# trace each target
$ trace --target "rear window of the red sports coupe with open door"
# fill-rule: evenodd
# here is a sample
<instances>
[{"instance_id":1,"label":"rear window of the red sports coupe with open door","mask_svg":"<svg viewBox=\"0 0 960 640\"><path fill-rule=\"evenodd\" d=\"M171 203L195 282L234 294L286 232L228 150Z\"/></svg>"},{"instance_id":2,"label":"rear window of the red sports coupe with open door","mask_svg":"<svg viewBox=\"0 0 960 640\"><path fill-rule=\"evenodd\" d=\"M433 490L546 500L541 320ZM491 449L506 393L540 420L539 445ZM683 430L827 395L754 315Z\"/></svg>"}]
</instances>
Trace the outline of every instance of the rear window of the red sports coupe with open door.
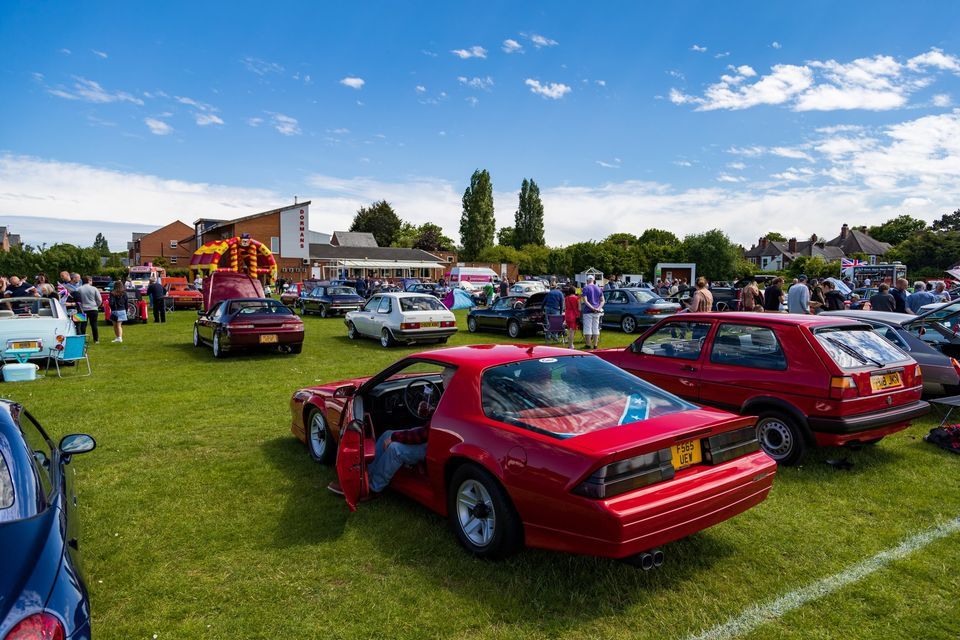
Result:
<instances>
[{"instance_id":1,"label":"rear window of the red sports coupe with open door","mask_svg":"<svg viewBox=\"0 0 960 640\"><path fill-rule=\"evenodd\" d=\"M480 385L487 417L571 438L696 407L593 356L491 367Z\"/></svg>"}]
</instances>

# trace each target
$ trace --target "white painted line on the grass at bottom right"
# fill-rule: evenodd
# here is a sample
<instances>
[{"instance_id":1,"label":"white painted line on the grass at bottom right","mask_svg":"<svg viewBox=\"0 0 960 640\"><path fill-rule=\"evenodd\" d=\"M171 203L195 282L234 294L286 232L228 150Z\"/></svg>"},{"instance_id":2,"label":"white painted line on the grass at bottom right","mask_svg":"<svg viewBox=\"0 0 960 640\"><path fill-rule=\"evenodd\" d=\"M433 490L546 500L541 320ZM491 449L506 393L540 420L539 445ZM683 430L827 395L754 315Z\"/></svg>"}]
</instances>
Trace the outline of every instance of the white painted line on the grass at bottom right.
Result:
<instances>
[{"instance_id":1,"label":"white painted line on the grass at bottom right","mask_svg":"<svg viewBox=\"0 0 960 640\"><path fill-rule=\"evenodd\" d=\"M784 614L805 605L811 600L822 598L834 591L842 589L848 584L863 580L871 573L882 569L891 562L905 558L914 551L924 548L931 542L945 538L957 531L960 531L960 517L907 538L896 547L881 551L872 558L858 562L840 573L818 580L796 591L791 591L771 602L754 605L745 609L739 616L730 618L723 624L703 631L698 635L690 636L689 640L730 640L731 638L755 631L768 622L782 617Z\"/></svg>"}]
</instances>

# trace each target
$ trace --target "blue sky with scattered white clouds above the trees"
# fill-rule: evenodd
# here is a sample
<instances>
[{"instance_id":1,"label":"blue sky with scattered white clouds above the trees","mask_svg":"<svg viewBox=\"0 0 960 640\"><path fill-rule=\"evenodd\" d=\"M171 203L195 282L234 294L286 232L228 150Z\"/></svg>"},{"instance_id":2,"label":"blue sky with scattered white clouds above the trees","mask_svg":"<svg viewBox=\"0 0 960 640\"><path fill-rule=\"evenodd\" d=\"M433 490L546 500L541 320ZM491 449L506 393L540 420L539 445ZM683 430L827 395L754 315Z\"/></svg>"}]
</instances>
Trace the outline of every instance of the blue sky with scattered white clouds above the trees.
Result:
<instances>
[{"instance_id":1,"label":"blue sky with scattered white clouds above the trees","mask_svg":"<svg viewBox=\"0 0 960 640\"><path fill-rule=\"evenodd\" d=\"M22 217L133 225L104 227L119 244L296 195L318 231L386 198L457 237L478 167L500 224L538 182L551 244L932 219L960 206L958 18L948 2L8 1L0 224L34 243L99 228Z\"/></svg>"}]
</instances>

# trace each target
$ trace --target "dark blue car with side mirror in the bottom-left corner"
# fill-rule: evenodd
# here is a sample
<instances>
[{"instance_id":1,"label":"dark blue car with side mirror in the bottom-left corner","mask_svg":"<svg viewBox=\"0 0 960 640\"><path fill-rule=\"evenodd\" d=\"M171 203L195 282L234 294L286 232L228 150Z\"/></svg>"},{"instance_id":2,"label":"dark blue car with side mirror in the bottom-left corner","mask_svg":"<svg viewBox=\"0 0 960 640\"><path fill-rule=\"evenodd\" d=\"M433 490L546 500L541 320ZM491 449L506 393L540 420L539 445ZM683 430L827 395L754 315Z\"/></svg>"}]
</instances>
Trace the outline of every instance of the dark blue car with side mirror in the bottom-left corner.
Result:
<instances>
[{"instance_id":1,"label":"dark blue car with side mirror in the bottom-left corner","mask_svg":"<svg viewBox=\"0 0 960 640\"><path fill-rule=\"evenodd\" d=\"M90 639L69 464L94 447L83 434L57 446L21 405L0 400L0 638Z\"/></svg>"}]
</instances>

